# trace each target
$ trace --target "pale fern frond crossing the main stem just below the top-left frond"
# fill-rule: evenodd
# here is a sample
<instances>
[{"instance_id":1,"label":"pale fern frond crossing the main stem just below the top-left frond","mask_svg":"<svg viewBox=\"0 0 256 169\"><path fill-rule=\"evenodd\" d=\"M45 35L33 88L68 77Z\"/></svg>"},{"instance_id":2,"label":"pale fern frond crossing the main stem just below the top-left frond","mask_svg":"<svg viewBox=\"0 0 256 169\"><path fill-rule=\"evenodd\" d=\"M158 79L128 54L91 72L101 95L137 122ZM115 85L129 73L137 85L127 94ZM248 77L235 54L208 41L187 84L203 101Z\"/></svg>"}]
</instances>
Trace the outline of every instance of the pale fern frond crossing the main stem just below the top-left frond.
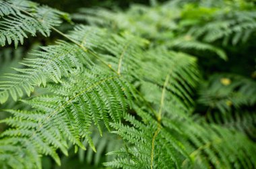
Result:
<instances>
[{"instance_id":1,"label":"pale fern frond crossing the main stem just below the top-left frond","mask_svg":"<svg viewBox=\"0 0 256 169\"><path fill-rule=\"evenodd\" d=\"M84 25L75 27L67 37L75 44L61 41L57 42L57 45L42 47L42 51L34 54L37 58L26 59L22 62L26 68L15 68L20 72L19 75L8 74L9 81L3 81L0 84L0 103L5 103L9 96L14 101L22 97L24 93L30 96L34 86L42 84L45 87L49 80L61 82L61 78L69 76L69 72L73 69L83 70L90 68L95 63L108 63L105 66L118 74L118 66L121 68L121 65L118 65L121 64L119 58L123 57L123 43L127 44L130 41L131 44L124 53L123 60L126 60L127 56L135 58L133 56L135 48L141 46L139 44L141 41L136 42L139 38L132 39L132 36L128 40L121 36L110 36L104 30ZM120 47L113 48L115 44L119 44ZM108 54L110 52L112 52L112 56Z\"/></svg>"}]
</instances>

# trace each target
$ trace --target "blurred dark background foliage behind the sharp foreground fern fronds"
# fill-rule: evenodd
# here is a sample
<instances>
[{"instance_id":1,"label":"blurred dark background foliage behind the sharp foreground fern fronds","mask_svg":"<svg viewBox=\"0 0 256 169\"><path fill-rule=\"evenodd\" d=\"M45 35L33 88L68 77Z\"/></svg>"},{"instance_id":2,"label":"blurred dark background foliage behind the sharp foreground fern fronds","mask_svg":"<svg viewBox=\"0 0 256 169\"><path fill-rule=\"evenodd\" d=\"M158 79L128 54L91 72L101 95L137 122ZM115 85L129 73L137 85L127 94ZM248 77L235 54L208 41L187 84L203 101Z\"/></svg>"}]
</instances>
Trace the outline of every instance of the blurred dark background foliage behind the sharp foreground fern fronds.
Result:
<instances>
[{"instance_id":1,"label":"blurred dark background foliage behind the sharp foreground fern fronds","mask_svg":"<svg viewBox=\"0 0 256 169\"><path fill-rule=\"evenodd\" d=\"M245 0L36 0L43 5L71 13L73 22L106 27L115 32L131 32L148 40L148 48L156 46L197 56L201 82L194 99L193 113L209 123L236 129L256 141L256 7L255 1ZM60 30L70 30L65 23ZM24 56L30 58L39 45L49 45L59 38L40 35L29 38L13 51L1 48L0 74L19 68ZM4 77L0 77L4 80ZM47 91L36 91L46 93ZM37 95L37 93L33 93ZM14 104L14 105L13 105ZM1 109L20 107L7 102ZM0 112L0 118L7 117ZM0 125L0 131L5 129ZM95 135L98 154L70 149L62 156L62 166L44 157L43 168L104 168L101 162L106 152L118 149L122 142L116 135ZM100 138L99 138L100 137ZM102 139L103 138L103 139ZM111 143L111 144L110 144ZM87 146L87 145L85 145Z\"/></svg>"}]
</instances>

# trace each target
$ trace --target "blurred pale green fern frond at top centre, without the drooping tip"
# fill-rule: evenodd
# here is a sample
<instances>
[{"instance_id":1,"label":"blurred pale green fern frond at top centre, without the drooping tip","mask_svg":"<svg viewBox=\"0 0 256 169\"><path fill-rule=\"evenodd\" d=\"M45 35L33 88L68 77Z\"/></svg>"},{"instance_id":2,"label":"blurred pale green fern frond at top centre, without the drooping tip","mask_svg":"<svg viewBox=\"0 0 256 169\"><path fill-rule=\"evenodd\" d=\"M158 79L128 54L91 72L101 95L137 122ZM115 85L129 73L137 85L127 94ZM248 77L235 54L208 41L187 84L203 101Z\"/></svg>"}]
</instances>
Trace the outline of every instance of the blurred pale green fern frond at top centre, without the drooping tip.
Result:
<instances>
[{"instance_id":1,"label":"blurred pale green fern frond at top centre, without the drooping tip","mask_svg":"<svg viewBox=\"0 0 256 169\"><path fill-rule=\"evenodd\" d=\"M160 5L159 7L147 7L146 5L131 5L129 10L110 11L108 9L79 9L73 14L78 21L86 21L90 25L110 27L111 30L127 30L143 38L160 38L162 32L170 32L177 29L177 23L172 21L179 16L172 12L172 6Z\"/></svg>"}]
</instances>

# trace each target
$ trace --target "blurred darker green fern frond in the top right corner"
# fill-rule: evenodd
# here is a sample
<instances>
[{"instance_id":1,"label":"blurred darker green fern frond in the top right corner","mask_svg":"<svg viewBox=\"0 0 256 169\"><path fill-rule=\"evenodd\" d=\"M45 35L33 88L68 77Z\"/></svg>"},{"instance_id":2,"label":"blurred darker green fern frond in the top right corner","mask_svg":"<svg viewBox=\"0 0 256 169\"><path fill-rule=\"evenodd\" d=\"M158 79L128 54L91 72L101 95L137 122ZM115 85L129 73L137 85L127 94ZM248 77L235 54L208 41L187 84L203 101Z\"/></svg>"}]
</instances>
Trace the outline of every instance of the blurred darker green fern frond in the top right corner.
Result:
<instances>
[{"instance_id":1,"label":"blurred darker green fern frond in the top right corner","mask_svg":"<svg viewBox=\"0 0 256 169\"><path fill-rule=\"evenodd\" d=\"M219 3L218 6L227 5L226 2ZM214 5L212 5L214 6ZM231 42L236 45L239 42L247 42L250 36L255 32L255 9L250 3L234 2L234 5L229 5L230 11L219 9L214 11L215 15L208 15L210 19L204 21L205 16L201 16L198 23L191 26L188 34L195 38L201 38L204 42L214 42L222 40L224 45ZM242 9L242 8L245 9ZM206 9L211 9L211 6ZM193 9L185 11L187 16L193 12ZM188 19L188 18L185 18Z\"/></svg>"}]
</instances>

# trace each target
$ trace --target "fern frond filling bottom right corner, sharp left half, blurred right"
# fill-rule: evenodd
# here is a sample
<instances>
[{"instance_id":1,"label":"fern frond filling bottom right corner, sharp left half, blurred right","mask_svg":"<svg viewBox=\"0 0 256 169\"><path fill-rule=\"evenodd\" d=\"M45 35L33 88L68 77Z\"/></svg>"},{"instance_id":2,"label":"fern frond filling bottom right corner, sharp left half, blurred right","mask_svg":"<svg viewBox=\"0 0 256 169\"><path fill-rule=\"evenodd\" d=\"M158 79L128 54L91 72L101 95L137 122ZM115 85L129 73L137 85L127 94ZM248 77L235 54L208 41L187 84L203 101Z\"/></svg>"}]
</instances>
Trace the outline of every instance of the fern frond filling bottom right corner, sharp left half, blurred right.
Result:
<instances>
[{"instance_id":1,"label":"fern frond filling bottom right corner, sharp left half, blurred right","mask_svg":"<svg viewBox=\"0 0 256 169\"><path fill-rule=\"evenodd\" d=\"M190 118L170 120L168 125L167 123L160 125L156 119L152 117L150 119L150 115L139 111L137 113L143 119L143 123L129 116L125 119L132 124L131 126L113 124L117 129L114 132L131 145L108 153L108 155L115 154L118 158L106 162L106 166L115 168L255 167L255 144L241 133L218 125L191 121ZM175 123L178 124L178 128ZM157 127L159 125L161 127ZM182 152L183 148L185 152ZM150 160L152 151L153 160ZM189 154L189 157L186 154Z\"/></svg>"}]
</instances>

